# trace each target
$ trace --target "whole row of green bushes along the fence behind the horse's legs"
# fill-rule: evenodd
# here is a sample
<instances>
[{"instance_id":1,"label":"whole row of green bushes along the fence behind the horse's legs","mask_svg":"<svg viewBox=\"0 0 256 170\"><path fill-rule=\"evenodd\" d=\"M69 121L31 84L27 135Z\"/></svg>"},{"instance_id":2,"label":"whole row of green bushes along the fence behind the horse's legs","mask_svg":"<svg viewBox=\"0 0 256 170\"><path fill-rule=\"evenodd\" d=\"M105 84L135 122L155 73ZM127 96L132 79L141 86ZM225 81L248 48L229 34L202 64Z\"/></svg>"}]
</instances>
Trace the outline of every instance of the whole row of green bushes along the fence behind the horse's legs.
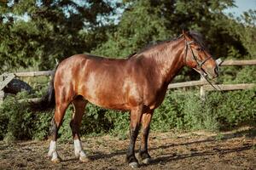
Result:
<instances>
[{"instance_id":1,"label":"whole row of green bushes along the fence behind the horse's legs","mask_svg":"<svg viewBox=\"0 0 256 170\"><path fill-rule=\"evenodd\" d=\"M162 105L154 111L151 129L166 132L181 130L221 130L241 125L255 125L256 89L207 93L207 99L201 102L199 89L169 90ZM37 94L38 95L38 94ZM7 97L0 106L0 139L46 139L49 136L53 111L32 112L26 102L36 96L20 93ZM129 113L110 111L95 105L87 105L80 133L96 135L111 133L120 139L128 137ZM73 106L67 109L63 124L59 130L60 141L72 139L69 122Z\"/></svg>"}]
</instances>

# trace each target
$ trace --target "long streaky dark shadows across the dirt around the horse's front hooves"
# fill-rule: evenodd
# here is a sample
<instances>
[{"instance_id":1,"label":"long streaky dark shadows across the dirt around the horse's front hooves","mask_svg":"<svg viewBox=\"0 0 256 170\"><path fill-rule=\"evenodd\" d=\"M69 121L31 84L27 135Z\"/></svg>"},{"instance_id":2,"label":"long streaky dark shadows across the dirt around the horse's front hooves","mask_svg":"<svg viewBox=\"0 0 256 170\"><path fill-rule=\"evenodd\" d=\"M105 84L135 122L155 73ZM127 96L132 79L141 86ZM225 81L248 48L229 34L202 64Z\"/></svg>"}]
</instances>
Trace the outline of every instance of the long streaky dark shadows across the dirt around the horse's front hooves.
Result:
<instances>
[{"instance_id":1,"label":"long streaky dark shadows across the dirt around the horse's front hooves","mask_svg":"<svg viewBox=\"0 0 256 170\"><path fill-rule=\"evenodd\" d=\"M186 142L186 143L180 143L180 144L163 144L157 147L150 148L149 151L151 150L167 150L167 149L172 149L177 146L183 146L183 145L190 145L190 144L206 144L206 143L212 143L212 142L223 142L225 140L229 139L236 139L236 138L241 138L241 137L246 137L249 139L254 139L256 137L256 127L250 127L249 129L246 130L241 130L237 132L232 132L232 133L219 133L212 135L211 137L208 137L207 139L203 140L196 140L192 142ZM213 148L212 150L207 150L207 151L201 151L201 150L191 150L189 154L164 154L163 156L158 156L154 158L151 162L151 165L153 164L159 164L160 162L168 162L168 161L176 161L176 160L182 160L186 159L189 157L196 157L196 156L213 156L213 155L225 155L229 154L232 152L241 152L243 150L250 150L252 149L253 144L243 144L239 147L233 147L233 148L227 148L227 149L219 149L219 148ZM138 150L136 150L137 152ZM122 156L125 155L126 150L117 150L113 153L110 154L105 154L103 152L95 152L94 155L90 156L90 159L92 160L98 160L98 159L104 159L104 158L111 158L113 156Z\"/></svg>"}]
</instances>

